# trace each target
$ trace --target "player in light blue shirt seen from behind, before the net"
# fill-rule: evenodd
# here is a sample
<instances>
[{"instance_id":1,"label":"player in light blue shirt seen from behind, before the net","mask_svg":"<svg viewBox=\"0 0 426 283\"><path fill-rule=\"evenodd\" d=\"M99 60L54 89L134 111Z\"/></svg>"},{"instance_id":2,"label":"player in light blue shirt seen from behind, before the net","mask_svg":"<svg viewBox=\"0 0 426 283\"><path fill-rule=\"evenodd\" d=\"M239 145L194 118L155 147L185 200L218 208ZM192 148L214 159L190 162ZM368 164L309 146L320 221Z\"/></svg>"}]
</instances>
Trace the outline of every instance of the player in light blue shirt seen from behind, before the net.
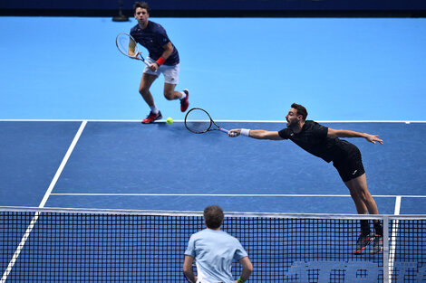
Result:
<instances>
[{"instance_id":1,"label":"player in light blue shirt seen from behind, before the net","mask_svg":"<svg viewBox=\"0 0 426 283\"><path fill-rule=\"evenodd\" d=\"M207 228L192 234L185 250L183 272L189 282L244 283L250 277L253 265L248 259L247 251L237 238L220 230L223 218L223 210L218 205L209 205L204 209ZM197 276L192 270L194 259L197 264ZM234 280L231 273L234 259L243 266L241 276L237 280Z\"/></svg>"}]
</instances>

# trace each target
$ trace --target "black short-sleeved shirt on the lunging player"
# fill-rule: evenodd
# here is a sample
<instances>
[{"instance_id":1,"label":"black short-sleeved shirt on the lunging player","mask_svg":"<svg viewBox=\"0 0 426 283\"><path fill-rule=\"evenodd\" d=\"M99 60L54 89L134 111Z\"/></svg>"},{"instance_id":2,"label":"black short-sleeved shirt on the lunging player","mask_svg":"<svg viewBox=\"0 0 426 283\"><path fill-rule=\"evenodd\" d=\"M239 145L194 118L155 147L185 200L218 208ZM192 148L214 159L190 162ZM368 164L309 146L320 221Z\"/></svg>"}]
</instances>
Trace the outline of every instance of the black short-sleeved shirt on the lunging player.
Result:
<instances>
[{"instance_id":1,"label":"black short-sleeved shirt on the lunging player","mask_svg":"<svg viewBox=\"0 0 426 283\"><path fill-rule=\"evenodd\" d=\"M295 134L291 128L286 127L278 134L284 139L290 139L308 153L323 158L326 162L343 159L354 145L338 137L327 137L327 132L328 127L306 120L300 133Z\"/></svg>"}]
</instances>

